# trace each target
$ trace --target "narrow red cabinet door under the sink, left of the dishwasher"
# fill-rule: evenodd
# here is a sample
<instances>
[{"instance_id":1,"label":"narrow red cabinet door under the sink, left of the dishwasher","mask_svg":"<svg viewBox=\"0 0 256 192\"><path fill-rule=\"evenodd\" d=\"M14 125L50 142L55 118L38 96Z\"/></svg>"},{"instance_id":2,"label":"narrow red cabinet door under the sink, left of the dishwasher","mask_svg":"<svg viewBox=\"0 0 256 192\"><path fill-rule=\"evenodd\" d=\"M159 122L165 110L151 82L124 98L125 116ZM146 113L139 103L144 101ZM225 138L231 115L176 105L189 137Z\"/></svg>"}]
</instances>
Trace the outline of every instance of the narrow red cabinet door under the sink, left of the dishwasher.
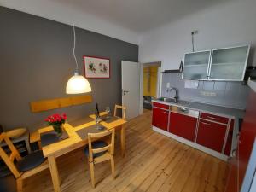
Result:
<instances>
[{"instance_id":1,"label":"narrow red cabinet door under the sink, left of the dishwasher","mask_svg":"<svg viewBox=\"0 0 256 192\"><path fill-rule=\"evenodd\" d=\"M153 108L152 125L167 131L169 111L160 108Z\"/></svg>"}]
</instances>

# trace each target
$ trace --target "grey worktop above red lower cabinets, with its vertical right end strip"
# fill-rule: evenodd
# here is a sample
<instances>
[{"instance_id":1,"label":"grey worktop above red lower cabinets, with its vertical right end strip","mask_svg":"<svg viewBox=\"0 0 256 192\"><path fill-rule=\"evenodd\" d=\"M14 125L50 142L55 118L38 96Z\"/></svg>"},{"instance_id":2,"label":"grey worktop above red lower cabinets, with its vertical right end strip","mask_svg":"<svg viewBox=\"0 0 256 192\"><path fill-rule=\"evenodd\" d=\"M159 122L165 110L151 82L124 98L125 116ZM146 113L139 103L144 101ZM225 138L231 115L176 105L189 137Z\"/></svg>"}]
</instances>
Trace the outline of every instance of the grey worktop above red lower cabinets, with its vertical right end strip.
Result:
<instances>
[{"instance_id":1,"label":"grey worktop above red lower cabinets, with its vertical right end strip","mask_svg":"<svg viewBox=\"0 0 256 192\"><path fill-rule=\"evenodd\" d=\"M177 107L181 107L181 108L194 109L194 110L197 110L197 111L200 111L200 112L212 113L212 114L226 116L228 118L235 119L233 136L232 136L231 151L236 149L237 134L239 132L239 119L242 119L244 117L245 110L236 109L236 108L220 107L220 106L215 106L215 105L200 103L200 102L179 101L179 102L175 103L175 102L160 101L160 100L157 100L157 99L152 100L152 102L158 102L158 103L166 104L166 105L169 105L169 106L177 106Z\"/></svg>"}]
</instances>

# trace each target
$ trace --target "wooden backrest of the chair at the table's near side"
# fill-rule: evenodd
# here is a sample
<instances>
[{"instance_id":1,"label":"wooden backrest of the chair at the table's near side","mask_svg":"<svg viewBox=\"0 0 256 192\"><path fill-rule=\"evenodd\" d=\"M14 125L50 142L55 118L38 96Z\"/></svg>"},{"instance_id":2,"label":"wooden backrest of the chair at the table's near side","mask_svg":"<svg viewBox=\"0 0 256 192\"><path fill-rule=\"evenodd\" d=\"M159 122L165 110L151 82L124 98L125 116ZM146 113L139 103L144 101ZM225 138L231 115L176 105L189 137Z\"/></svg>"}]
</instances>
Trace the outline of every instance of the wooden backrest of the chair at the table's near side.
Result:
<instances>
[{"instance_id":1,"label":"wooden backrest of the chair at the table's near side","mask_svg":"<svg viewBox=\"0 0 256 192\"><path fill-rule=\"evenodd\" d=\"M108 146L102 148L92 148L91 140L111 135L111 142ZM89 161L93 161L93 154L108 151L109 154L113 154L114 151L114 129L108 131L102 131L98 133L88 133L88 145L89 145Z\"/></svg>"}]
</instances>

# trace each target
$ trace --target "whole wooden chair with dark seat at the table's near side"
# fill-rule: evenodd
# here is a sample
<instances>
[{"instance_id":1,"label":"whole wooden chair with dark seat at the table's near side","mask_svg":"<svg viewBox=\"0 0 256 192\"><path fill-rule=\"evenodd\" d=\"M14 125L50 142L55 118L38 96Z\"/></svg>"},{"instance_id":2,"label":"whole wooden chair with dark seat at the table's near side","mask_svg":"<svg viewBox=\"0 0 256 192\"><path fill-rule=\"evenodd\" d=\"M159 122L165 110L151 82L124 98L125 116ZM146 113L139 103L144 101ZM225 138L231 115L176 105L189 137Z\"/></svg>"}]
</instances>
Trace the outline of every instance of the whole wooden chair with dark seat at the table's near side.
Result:
<instances>
[{"instance_id":1,"label":"whole wooden chair with dark seat at the table's near side","mask_svg":"<svg viewBox=\"0 0 256 192\"><path fill-rule=\"evenodd\" d=\"M96 140L100 137L106 137L111 135L110 143ZM92 143L92 140L96 140ZM94 178L94 165L106 160L111 161L112 177L114 179L114 130L102 131L99 133L88 133L88 147L85 148L85 154L88 157L90 165L90 181L93 188L95 188Z\"/></svg>"}]
</instances>

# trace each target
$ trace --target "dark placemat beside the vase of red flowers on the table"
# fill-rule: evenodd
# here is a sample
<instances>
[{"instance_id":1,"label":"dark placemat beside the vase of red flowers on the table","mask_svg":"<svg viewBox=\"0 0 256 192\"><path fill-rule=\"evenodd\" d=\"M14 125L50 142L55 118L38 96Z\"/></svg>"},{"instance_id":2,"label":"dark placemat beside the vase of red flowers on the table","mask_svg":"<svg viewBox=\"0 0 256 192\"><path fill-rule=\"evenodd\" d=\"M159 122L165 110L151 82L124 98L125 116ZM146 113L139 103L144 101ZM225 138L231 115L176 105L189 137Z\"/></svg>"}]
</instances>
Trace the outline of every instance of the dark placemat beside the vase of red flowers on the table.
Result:
<instances>
[{"instance_id":1,"label":"dark placemat beside the vase of red flowers on the table","mask_svg":"<svg viewBox=\"0 0 256 192\"><path fill-rule=\"evenodd\" d=\"M55 131L49 131L46 133L40 134L41 137L41 146L44 147L46 145L52 144L52 143L58 143L61 140L69 138L67 131L63 129L61 137L57 137Z\"/></svg>"}]
</instances>

